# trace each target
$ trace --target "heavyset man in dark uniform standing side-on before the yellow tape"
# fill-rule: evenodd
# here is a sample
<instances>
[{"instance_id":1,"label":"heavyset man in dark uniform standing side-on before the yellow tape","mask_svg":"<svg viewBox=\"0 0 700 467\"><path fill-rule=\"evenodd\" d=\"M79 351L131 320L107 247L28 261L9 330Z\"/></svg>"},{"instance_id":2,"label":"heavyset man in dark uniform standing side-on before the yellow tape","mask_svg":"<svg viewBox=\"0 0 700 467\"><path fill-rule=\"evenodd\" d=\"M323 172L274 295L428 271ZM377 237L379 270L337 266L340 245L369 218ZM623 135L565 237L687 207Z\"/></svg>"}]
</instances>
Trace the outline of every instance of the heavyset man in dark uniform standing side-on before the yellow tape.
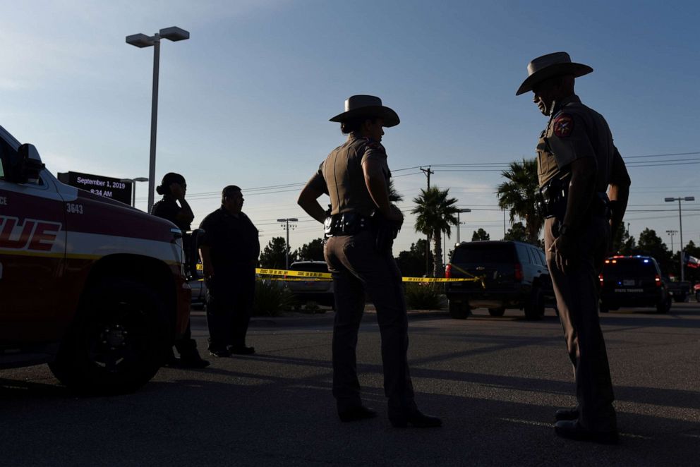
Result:
<instances>
[{"instance_id":1,"label":"heavyset man in dark uniform standing side-on before the yellow tape","mask_svg":"<svg viewBox=\"0 0 700 467\"><path fill-rule=\"evenodd\" d=\"M207 281L207 323L212 356L249 355L246 346L255 297L255 266L260 255L258 229L241 212L241 188L222 191L221 207L200 224L200 257Z\"/></svg>"}]
</instances>

